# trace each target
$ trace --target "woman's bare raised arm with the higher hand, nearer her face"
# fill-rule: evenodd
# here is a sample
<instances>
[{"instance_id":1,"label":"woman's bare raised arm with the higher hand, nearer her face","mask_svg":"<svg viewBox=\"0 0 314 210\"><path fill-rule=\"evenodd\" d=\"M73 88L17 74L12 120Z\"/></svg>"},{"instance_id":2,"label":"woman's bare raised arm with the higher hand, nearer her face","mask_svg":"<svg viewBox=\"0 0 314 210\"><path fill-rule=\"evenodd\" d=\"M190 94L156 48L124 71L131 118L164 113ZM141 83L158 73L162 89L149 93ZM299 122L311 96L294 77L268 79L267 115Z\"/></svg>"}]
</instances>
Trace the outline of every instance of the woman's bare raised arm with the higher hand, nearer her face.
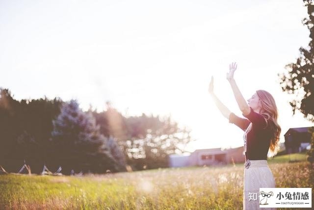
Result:
<instances>
[{"instance_id":1,"label":"woman's bare raised arm with the higher hand, nearer her face","mask_svg":"<svg viewBox=\"0 0 314 210\"><path fill-rule=\"evenodd\" d=\"M227 79L231 85L232 91L234 92L236 103L239 106L241 112L244 115L248 115L251 111L250 106L246 103L245 99L243 98L234 79L234 73L235 73L236 67L237 67L236 63L232 63L229 65L229 73L227 73Z\"/></svg>"}]
</instances>

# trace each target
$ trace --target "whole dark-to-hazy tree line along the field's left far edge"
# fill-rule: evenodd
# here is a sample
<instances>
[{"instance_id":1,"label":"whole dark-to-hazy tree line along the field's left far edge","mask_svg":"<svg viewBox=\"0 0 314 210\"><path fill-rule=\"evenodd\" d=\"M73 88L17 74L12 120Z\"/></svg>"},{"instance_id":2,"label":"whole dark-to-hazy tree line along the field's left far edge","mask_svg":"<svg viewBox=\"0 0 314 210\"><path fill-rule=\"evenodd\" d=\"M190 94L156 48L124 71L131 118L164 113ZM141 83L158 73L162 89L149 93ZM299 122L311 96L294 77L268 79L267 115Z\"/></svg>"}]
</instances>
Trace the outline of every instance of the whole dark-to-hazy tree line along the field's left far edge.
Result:
<instances>
[{"instance_id":1,"label":"whole dark-to-hazy tree line along the field's left far edge","mask_svg":"<svg viewBox=\"0 0 314 210\"><path fill-rule=\"evenodd\" d=\"M183 153L190 130L170 116L123 116L110 102L97 112L60 98L15 100L0 89L0 165L17 172L107 173L168 167L170 154Z\"/></svg>"}]
</instances>

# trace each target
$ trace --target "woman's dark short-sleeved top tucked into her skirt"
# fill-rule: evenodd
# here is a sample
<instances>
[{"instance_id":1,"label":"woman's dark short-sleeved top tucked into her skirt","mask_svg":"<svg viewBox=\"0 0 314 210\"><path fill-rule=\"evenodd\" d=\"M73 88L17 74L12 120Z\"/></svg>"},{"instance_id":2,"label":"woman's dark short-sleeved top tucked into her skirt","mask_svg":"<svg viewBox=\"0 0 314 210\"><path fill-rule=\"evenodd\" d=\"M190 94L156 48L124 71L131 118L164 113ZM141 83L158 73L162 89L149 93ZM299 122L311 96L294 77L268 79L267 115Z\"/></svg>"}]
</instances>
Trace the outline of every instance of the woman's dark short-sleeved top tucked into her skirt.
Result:
<instances>
[{"instance_id":1,"label":"woman's dark short-sleeved top tucked into her skirt","mask_svg":"<svg viewBox=\"0 0 314 210\"><path fill-rule=\"evenodd\" d=\"M236 116L233 112L229 116L229 123L233 123L243 131L246 131L250 123L252 123L252 129L246 133L246 159L258 160L267 159L267 153L270 145L270 139L272 131L270 129L271 120L267 121L262 114L251 111L248 115L242 114L245 118ZM245 136L245 134L244 134Z\"/></svg>"}]
</instances>

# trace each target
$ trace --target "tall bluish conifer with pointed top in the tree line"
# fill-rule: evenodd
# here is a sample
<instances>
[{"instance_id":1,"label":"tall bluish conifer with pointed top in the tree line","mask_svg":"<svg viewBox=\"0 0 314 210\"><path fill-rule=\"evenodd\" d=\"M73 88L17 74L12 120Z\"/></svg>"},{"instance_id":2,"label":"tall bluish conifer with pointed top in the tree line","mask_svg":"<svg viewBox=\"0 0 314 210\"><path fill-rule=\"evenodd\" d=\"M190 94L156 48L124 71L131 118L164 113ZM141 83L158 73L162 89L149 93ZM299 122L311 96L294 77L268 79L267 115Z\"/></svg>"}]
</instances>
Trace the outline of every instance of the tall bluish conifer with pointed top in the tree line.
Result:
<instances>
[{"instance_id":1,"label":"tall bluish conifer with pointed top in the tree line","mask_svg":"<svg viewBox=\"0 0 314 210\"><path fill-rule=\"evenodd\" d=\"M76 100L63 105L53 126L53 154L66 173L72 169L93 173L116 171L113 157L104 148L107 139L92 114L83 112Z\"/></svg>"}]
</instances>

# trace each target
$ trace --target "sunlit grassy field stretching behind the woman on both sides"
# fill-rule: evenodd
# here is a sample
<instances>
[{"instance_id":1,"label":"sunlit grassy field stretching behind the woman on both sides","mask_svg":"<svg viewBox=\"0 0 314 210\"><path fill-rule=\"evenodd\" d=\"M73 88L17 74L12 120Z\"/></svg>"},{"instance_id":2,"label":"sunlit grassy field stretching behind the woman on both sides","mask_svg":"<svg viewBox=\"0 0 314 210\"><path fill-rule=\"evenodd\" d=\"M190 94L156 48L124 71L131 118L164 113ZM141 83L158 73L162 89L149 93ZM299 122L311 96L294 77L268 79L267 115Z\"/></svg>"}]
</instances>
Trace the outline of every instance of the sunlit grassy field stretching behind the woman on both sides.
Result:
<instances>
[{"instance_id":1,"label":"sunlit grassy field stretching behind the woman on both sides","mask_svg":"<svg viewBox=\"0 0 314 210\"><path fill-rule=\"evenodd\" d=\"M276 187L314 189L311 165L289 159L268 160ZM83 177L2 175L0 209L242 209L243 170L236 164Z\"/></svg>"}]
</instances>

